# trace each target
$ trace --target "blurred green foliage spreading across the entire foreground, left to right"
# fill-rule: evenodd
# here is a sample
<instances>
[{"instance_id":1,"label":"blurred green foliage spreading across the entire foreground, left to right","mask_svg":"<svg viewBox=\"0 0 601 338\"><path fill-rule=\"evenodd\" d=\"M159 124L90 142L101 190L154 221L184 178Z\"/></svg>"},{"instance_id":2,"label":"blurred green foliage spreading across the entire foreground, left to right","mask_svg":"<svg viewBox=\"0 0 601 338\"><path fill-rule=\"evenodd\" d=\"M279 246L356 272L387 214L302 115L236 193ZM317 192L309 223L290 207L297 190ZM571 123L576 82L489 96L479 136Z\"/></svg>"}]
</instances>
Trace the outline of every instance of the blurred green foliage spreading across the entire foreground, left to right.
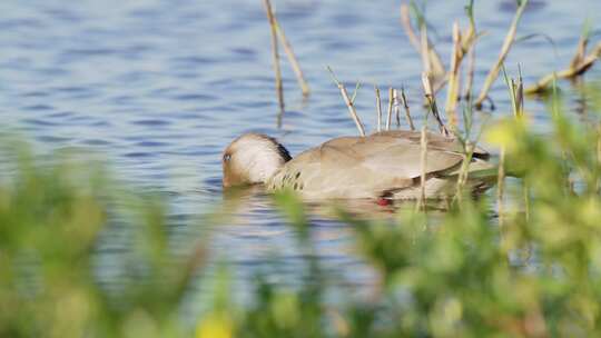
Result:
<instances>
[{"instance_id":1,"label":"blurred green foliage spreading across the entire foreground, left to right","mask_svg":"<svg viewBox=\"0 0 601 338\"><path fill-rule=\"evenodd\" d=\"M587 115L549 99L549 135L530 131L528 111L489 128L519 173L500 200L461 198L443 215L403 210L394 221L338 210L377 272L370 299L325 300L305 208L292 192L276 195L308 277L286 288L259 276L253 301L240 305L217 274L213 305L194 326L180 308L206 269L206 238L174 259L162 202L124 198L99 166L41 166L13 152L16 170L0 185L0 336L601 336L600 92L584 89L597 105ZM124 286L109 292L93 262L99 238L122 219L132 254Z\"/></svg>"}]
</instances>

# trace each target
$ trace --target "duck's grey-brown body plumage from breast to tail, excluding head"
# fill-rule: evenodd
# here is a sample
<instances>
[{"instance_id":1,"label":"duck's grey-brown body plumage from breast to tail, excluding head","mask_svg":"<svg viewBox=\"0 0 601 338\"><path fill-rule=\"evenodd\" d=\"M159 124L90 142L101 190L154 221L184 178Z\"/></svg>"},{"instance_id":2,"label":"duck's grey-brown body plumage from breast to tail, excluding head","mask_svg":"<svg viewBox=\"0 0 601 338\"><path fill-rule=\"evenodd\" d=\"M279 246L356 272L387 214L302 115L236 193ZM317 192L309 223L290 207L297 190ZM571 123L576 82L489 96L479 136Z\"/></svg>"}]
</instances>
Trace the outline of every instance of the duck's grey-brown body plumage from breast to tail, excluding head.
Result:
<instances>
[{"instance_id":1,"label":"duck's grey-brown body plumage from breast to tail, excluding head","mask_svg":"<svg viewBox=\"0 0 601 338\"><path fill-rule=\"evenodd\" d=\"M454 195L462 152L456 140L427 135L426 198ZM421 196L421 133L415 131L341 137L283 161L264 183L270 190L294 189L308 199L414 199ZM476 148L469 171L492 168L486 159L487 152ZM470 183L482 187L484 181Z\"/></svg>"}]
</instances>

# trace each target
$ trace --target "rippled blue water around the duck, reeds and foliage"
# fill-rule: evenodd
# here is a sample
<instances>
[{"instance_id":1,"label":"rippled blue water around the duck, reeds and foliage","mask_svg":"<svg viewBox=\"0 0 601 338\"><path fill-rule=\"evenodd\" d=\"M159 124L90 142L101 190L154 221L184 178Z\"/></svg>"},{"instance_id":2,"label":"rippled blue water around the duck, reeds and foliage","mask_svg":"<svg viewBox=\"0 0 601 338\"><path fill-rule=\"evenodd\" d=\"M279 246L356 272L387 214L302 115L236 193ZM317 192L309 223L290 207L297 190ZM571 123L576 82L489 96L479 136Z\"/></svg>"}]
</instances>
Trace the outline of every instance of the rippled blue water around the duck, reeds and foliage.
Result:
<instances>
[{"instance_id":1,"label":"rippled blue water around the duck, reeds and foliage","mask_svg":"<svg viewBox=\"0 0 601 338\"><path fill-rule=\"evenodd\" d=\"M431 33L449 59L453 18L465 1L430 1ZM532 1L508 67L521 62L526 83L565 67L585 18L601 22L601 2ZM477 1L476 88L495 60L513 17L513 1ZM4 130L35 140L40 151L85 148L106 158L120 179L166 196L171 205L174 246L199 227L191 221L223 199L220 151L235 137L258 131L277 137L293 155L329 138L356 135L327 71L349 89L364 82L357 110L373 129L372 83L404 86L421 116L421 63L398 21L398 1L279 0L279 20L307 76L313 95L303 99L284 58L286 112L277 127L269 28L259 0L28 0L0 3L0 116ZM465 24L465 22L463 21ZM594 27L594 24L593 24ZM544 37L543 37L544 36ZM551 38L551 44L546 38ZM601 74L597 70L591 77ZM581 108L570 90L569 105ZM502 81L492 91L508 112ZM444 97L441 96L441 100ZM585 100L584 100L585 102ZM548 127L541 102L526 108L536 128ZM418 118L417 118L418 119ZM284 267L274 281L298 278L300 252L270 200L249 193L211 240L214 256L230 262L244 284L269 266L274 252ZM354 286L373 277L352 254L343 223L315 216L313 240L332 274ZM101 243L99 275L119 282L125 236Z\"/></svg>"}]
</instances>

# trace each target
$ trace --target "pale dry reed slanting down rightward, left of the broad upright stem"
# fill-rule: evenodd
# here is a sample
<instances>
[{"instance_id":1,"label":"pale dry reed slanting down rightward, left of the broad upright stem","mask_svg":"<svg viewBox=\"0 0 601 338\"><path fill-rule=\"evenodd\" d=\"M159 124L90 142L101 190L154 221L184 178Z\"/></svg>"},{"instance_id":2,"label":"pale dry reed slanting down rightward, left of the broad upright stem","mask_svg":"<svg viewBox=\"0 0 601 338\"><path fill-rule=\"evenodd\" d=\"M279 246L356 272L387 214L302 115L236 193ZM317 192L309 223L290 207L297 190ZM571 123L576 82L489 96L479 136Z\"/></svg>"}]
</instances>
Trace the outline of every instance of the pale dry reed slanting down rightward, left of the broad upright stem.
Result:
<instances>
[{"instance_id":1,"label":"pale dry reed slanting down rightward, left of the broad upright stem","mask_svg":"<svg viewBox=\"0 0 601 338\"><path fill-rule=\"evenodd\" d=\"M436 79L436 83L441 80L443 81L446 71L444 70L442 59L434 49L434 46L432 44L430 39L427 38L425 24L420 28L420 37L415 34L413 26L411 24L410 8L406 3L401 4L401 24L403 26L403 29L405 30L405 33L407 34L411 44L413 46L413 48L415 48L415 51L417 51L422 57L424 70L433 73L434 78Z\"/></svg>"}]
</instances>

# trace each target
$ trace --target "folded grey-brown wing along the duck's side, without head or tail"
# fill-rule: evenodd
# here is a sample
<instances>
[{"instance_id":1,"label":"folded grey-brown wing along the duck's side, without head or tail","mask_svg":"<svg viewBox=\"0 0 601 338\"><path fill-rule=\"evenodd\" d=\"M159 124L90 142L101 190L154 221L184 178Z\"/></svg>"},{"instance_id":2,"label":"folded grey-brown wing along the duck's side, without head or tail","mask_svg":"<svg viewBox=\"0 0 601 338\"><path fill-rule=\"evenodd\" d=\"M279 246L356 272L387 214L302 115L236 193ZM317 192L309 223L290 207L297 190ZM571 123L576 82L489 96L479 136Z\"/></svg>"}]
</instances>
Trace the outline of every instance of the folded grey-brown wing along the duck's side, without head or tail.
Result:
<instances>
[{"instance_id":1,"label":"folded grey-brown wing along the duck's side, without head or tail","mask_svg":"<svg viewBox=\"0 0 601 338\"><path fill-rule=\"evenodd\" d=\"M418 132L343 137L309 149L274 177L269 188L290 187L309 198L375 198L413 187L422 173ZM426 175L456 169L463 156L432 135Z\"/></svg>"}]
</instances>

